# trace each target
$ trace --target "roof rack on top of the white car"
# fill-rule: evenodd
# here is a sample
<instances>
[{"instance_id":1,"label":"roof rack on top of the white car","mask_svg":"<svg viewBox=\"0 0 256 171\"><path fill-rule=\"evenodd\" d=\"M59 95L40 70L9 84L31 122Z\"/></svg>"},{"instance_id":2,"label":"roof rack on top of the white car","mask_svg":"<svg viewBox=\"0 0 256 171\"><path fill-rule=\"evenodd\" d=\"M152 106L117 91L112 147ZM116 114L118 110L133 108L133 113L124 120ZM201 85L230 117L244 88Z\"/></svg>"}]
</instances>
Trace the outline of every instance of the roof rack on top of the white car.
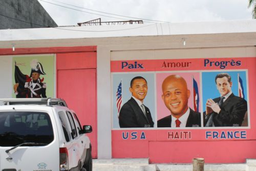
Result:
<instances>
[{"instance_id":1,"label":"roof rack on top of the white car","mask_svg":"<svg viewBox=\"0 0 256 171\"><path fill-rule=\"evenodd\" d=\"M0 99L4 102L4 105L13 104L46 104L48 106L60 105L68 107L65 100L60 98L5 98Z\"/></svg>"}]
</instances>

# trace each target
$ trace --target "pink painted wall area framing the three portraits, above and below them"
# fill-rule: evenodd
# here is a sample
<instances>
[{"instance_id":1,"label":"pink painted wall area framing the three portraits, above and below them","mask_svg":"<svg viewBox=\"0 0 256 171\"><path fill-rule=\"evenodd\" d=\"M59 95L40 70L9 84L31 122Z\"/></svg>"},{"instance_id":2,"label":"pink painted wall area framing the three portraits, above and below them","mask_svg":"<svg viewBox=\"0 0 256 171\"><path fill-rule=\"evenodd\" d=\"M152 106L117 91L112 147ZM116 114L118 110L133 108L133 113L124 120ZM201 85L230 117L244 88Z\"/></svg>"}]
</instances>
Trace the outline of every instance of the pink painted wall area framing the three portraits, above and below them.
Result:
<instances>
[{"instance_id":1,"label":"pink painted wall area framing the three portraits, above and below them","mask_svg":"<svg viewBox=\"0 0 256 171\"><path fill-rule=\"evenodd\" d=\"M164 61L191 62L185 68L161 68ZM193 158L204 158L206 163L244 163L248 158L256 158L256 57L211 58L211 60L241 61L240 66L228 65L225 70L246 70L248 73L249 126L246 127L197 127L197 128L150 128L112 130L113 158L149 158L151 163L191 163ZM203 59L159 59L126 60L128 63L143 63L143 69L121 69L122 61L111 61L111 72L155 72L156 90L161 94L159 82L169 73L177 74L188 70L223 71L217 66L204 66ZM160 67L159 67L160 66ZM162 73L161 71L169 72ZM178 74L182 74L179 72ZM183 73L184 77L186 74ZM197 77L199 79L199 77ZM190 83L188 83L189 85ZM245 83L246 84L246 83ZM189 87L189 86L188 86ZM200 86L199 86L200 87ZM164 104L157 97L157 113ZM160 107L162 106L162 107ZM160 111L159 111L160 110ZM202 111L201 111L202 112ZM157 114L158 116L162 115ZM217 135L218 136L214 136ZM233 134L228 137L228 134ZM128 136L127 136L128 135Z\"/></svg>"}]
</instances>

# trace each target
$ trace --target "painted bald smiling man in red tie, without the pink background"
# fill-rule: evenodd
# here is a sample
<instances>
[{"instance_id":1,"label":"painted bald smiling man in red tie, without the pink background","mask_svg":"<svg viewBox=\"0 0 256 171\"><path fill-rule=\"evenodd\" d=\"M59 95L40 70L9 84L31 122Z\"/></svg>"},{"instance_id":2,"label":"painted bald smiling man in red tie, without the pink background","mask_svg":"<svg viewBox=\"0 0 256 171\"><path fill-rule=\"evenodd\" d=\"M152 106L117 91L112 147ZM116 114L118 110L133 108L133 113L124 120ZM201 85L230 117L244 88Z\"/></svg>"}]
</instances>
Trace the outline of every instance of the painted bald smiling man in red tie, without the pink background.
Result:
<instances>
[{"instance_id":1,"label":"painted bald smiling man in red tie, without the pink background","mask_svg":"<svg viewBox=\"0 0 256 171\"><path fill-rule=\"evenodd\" d=\"M157 121L157 127L200 127L201 115L188 108L190 91L185 79L170 75L162 83L162 99L170 115Z\"/></svg>"}]
</instances>

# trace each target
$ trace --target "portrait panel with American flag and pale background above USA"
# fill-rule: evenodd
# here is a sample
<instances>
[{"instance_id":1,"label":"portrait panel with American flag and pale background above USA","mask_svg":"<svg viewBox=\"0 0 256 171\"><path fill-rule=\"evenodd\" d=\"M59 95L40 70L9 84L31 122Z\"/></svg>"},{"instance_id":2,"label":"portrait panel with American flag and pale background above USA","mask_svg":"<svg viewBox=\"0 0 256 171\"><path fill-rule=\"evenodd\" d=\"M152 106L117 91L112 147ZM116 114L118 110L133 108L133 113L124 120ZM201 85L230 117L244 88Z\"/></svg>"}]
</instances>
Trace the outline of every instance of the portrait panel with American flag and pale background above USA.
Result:
<instances>
[{"instance_id":1,"label":"portrait panel with American flag and pale background above USA","mask_svg":"<svg viewBox=\"0 0 256 171\"><path fill-rule=\"evenodd\" d=\"M113 85L113 127L156 127L154 74L114 74Z\"/></svg>"}]
</instances>

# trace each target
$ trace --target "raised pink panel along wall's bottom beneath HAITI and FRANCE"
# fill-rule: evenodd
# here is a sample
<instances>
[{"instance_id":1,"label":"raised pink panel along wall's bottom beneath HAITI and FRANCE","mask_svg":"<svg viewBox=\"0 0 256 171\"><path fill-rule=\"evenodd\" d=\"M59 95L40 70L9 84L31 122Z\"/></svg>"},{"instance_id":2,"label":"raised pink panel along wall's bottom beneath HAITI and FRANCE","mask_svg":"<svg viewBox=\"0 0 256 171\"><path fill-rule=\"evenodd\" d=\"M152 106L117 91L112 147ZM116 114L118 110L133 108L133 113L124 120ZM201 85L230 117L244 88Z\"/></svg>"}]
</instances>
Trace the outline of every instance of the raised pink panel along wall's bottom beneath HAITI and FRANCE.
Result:
<instances>
[{"instance_id":1,"label":"raised pink panel along wall's bottom beneath HAITI and FRANCE","mask_svg":"<svg viewBox=\"0 0 256 171\"><path fill-rule=\"evenodd\" d=\"M174 141L149 142L152 163L191 163L204 158L205 163L245 163L256 158L256 141Z\"/></svg>"}]
</instances>

